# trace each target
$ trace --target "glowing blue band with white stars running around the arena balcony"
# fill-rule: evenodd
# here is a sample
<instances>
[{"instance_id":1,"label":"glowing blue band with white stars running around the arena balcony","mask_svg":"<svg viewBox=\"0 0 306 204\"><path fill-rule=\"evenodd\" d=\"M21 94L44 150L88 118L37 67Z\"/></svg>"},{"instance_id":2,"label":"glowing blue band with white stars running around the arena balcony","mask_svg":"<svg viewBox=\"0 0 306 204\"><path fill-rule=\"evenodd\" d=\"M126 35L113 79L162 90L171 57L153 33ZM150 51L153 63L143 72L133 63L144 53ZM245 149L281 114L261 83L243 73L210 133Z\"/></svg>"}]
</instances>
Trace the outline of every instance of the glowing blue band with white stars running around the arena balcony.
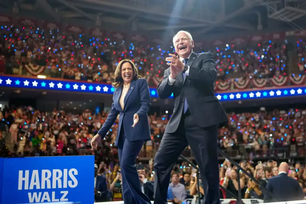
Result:
<instances>
[{"instance_id":1,"label":"glowing blue band with white stars running around the arena balcony","mask_svg":"<svg viewBox=\"0 0 306 204\"><path fill-rule=\"evenodd\" d=\"M75 91L86 93L113 94L115 88L110 84L92 83L72 80L25 78L16 76L0 76L0 87L29 88L54 91ZM156 88L150 87L151 97L158 97ZM279 98L306 95L306 87L273 87L271 89L254 89L248 91L233 91L216 93L222 101L250 100L264 98ZM170 96L173 98L173 94Z\"/></svg>"}]
</instances>

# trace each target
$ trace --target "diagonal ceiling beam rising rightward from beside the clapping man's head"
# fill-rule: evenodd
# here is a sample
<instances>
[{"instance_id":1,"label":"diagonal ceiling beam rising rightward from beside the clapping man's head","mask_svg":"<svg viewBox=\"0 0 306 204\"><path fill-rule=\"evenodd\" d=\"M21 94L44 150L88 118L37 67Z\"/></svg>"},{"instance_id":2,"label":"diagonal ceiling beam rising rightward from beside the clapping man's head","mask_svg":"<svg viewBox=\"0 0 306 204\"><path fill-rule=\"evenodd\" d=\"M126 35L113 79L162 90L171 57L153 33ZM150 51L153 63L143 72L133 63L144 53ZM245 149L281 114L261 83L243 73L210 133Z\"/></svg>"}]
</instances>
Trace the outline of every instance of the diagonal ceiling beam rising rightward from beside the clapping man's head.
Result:
<instances>
[{"instance_id":1,"label":"diagonal ceiling beam rising rightward from beside the clapping man's head","mask_svg":"<svg viewBox=\"0 0 306 204\"><path fill-rule=\"evenodd\" d=\"M236 10L236 11L234 11L233 13L227 15L226 17L224 17L224 18L218 20L217 22L215 22L214 24L212 24L210 27L198 31L196 35L201 35L201 34L207 33L207 32L211 31L212 29L214 29L214 28L216 28L216 27L218 27L218 26L222 26L222 25L224 26L224 23L226 23L227 21L229 21L229 20L231 20L231 19L233 19L233 18L239 16L241 13L244 13L247 9L250 9L250 8L252 8L253 6L255 6L256 4L258 4L258 2L255 1L255 0L252 0L252 1L244 1L244 2L245 2L245 3L244 3L244 6L243 6L243 7L241 7L240 9L238 9L238 10ZM228 25L229 25L229 24L228 24ZM230 27L232 27L232 26L230 26Z\"/></svg>"}]
</instances>

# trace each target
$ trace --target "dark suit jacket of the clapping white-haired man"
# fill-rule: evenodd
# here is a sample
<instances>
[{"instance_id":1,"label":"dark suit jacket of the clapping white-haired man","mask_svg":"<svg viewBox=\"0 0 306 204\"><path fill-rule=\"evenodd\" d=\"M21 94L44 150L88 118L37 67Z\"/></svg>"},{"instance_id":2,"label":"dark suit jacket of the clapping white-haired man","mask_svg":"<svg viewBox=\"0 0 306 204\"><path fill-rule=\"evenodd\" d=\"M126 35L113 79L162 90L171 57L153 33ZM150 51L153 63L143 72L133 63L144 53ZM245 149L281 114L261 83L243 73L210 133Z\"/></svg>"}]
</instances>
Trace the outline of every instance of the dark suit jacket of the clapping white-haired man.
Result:
<instances>
[{"instance_id":1,"label":"dark suit jacket of the clapping white-haired man","mask_svg":"<svg viewBox=\"0 0 306 204\"><path fill-rule=\"evenodd\" d=\"M166 99L172 93L174 97L174 111L165 133L173 133L177 130L185 97L195 124L202 128L212 125L217 125L219 128L225 126L228 119L214 91L214 83L217 79L214 55L209 52L201 54L192 52L187 66L189 66L189 77L185 82L180 72L175 83L169 85L170 68L168 68L162 83L157 87L159 98Z\"/></svg>"}]
</instances>

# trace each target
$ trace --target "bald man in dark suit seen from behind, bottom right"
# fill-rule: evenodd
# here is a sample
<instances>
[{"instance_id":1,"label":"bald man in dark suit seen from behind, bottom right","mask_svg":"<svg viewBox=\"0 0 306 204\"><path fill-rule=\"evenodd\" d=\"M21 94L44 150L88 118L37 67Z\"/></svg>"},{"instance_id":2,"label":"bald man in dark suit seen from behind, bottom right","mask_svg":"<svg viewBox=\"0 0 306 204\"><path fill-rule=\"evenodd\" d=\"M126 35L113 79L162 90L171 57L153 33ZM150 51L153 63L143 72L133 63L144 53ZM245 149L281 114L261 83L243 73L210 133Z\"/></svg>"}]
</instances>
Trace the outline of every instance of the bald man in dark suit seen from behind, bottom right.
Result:
<instances>
[{"instance_id":1,"label":"bald man in dark suit seen from behind, bottom right","mask_svg":"<svg viewBox=\"0 0 306 204\"><path fill-rule=\"evenodd\" d=\"M304 194L300 184L294 178L289 177L289 165L282 162L278 167L278 176L268 180L266 188L278 199L275 200L269 194L265 193L263 202L285 202L303 200Z\"/></svg>"}]
</instances>

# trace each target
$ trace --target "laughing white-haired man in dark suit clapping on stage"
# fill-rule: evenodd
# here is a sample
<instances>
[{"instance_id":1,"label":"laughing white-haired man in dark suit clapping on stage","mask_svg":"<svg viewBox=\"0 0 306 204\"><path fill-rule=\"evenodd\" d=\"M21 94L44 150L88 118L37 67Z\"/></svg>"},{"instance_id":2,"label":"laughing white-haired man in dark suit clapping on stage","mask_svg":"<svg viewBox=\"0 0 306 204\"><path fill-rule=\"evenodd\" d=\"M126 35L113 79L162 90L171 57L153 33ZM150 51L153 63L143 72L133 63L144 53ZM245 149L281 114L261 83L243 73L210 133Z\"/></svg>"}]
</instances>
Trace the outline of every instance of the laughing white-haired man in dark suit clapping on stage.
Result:
<instances>
[{"instance_id":1,"label":"laughing white-haired man in dark suit clapping on stage","mask_svg":"<svg viewBox=\"0 0 306 204\"><path fill-rule=\"evenodd\" d=\"M196 54L189 32L173 38L178 56L169 54L159 98L173 93L174 112L155 155L155 204L166 204L170 173L181 151L189 146L200 168L205 204L219 204L218 128L228 122L214 93L217 69L211 53Z\"/></svg>"}]
</instances>

